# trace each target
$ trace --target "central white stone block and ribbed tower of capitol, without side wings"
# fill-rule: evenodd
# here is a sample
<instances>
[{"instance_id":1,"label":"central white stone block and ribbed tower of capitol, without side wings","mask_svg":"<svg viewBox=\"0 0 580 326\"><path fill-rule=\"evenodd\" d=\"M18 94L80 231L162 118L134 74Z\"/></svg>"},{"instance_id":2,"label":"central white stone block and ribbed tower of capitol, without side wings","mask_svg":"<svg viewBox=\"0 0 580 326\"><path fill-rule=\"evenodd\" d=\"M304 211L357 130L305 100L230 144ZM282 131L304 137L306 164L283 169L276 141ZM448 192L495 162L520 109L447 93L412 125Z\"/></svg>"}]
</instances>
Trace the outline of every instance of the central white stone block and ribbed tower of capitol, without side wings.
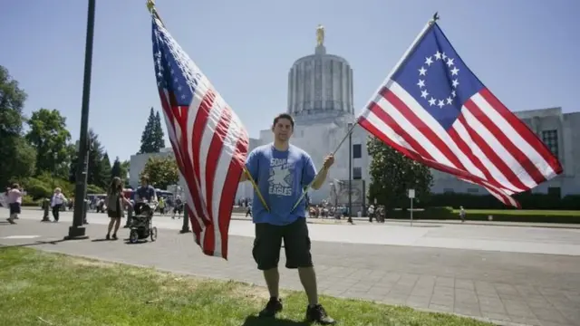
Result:
<instances>
[{"instance_id":1,"label":"central white stone block and ribbed tower of capitol, without side wings","mask_svg":"<svg viewBox=\"0 0 580 326\"><path fill-rule=\"evenodd\" d=\"M323 35L324 36L324 35ZM295 131L290 142L304 149L321 168L323 159L337 149L347 136L350 123L354 121L353 69L342 57L326 53L324 43L318 43L314 54L294 62L288 72L287 113L295 118ZM251 139L250 149L273 140L271 120L266 120L268 129L260 131L258 139ZM353 211L365 206L368 180L369 157L366 150L366 130L356 126L350 140L352 145L352 188ZM344 139L335 153L335 163L329 172L328 182L319 190L309 191L313 203L333 197L338 204L348 202L349 139ZM339 180L338 190L335 183ZM252 185L241 184L237 199L253 197Z\"/></svg>"}]
</instances>

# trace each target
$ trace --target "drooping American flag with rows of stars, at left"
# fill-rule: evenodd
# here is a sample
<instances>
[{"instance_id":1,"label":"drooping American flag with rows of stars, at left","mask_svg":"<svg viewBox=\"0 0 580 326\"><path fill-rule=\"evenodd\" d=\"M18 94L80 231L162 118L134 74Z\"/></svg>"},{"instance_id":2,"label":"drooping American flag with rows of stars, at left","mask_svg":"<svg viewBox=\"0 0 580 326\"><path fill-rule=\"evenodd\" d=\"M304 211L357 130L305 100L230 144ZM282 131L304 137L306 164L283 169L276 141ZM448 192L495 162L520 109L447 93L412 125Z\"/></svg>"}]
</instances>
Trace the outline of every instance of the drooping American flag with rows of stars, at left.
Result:
<instances>
[{"instance_id":1,"label":"drooping American flag with rows of stars, at left","mask_svg":"<svg viewBox=\"0 0 580 326\"><path fill-rule=\"evenodd\" d=\"M227 259L227 230L246 163L247 130L153 16L153 59L169 142L185 179L186 209L204 254Z\"/></svg>"}]
</instances>

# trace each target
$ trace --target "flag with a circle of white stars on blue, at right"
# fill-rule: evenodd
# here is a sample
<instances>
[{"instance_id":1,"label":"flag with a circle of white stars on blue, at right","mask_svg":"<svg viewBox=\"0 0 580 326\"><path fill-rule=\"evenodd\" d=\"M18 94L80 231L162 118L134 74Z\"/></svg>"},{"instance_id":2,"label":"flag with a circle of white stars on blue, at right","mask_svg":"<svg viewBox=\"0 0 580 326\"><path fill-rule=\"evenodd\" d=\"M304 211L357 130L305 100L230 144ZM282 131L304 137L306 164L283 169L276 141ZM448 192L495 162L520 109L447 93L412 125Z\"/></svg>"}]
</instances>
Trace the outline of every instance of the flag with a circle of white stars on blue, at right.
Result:
<instances>
[{"instance_id":1,"label":"flag with a circle of white stars on blue, at right","mask_svg":"<svg viewBox=\"0 0 580 326\"><path fill-rule=\"evenodd\" d=\"M434 21L373 95L358 123L404 155L511 195L562 173L558 159L461 60Z\"/></svg>"}]
</instances>

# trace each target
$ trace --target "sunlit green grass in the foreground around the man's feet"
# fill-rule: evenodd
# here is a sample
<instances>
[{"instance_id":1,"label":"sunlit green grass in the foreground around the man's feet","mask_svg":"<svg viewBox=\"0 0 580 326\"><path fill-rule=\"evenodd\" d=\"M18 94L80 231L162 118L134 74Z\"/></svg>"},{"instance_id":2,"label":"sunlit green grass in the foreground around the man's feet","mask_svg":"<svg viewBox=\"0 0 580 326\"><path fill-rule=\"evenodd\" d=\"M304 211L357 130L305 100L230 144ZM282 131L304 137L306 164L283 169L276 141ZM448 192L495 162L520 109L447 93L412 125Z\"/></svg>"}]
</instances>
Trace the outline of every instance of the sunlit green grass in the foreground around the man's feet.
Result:
<instances>
[{"instance_id":1,"label":"sunlit green grass in the foreground around the man's feet","mask_svg":"<svg viewBox=\"0 0 580 326\"><path fill-rule=\"evenodd\" d=\"M0 247L0 325L306 325L305 296L283 292L277 320L257 319L264 288L160 273L154 269ZM256 271L257 273L257 271ZM340 325L488 323L373 302L322 298Z\"/></svg>"}]
</instances>

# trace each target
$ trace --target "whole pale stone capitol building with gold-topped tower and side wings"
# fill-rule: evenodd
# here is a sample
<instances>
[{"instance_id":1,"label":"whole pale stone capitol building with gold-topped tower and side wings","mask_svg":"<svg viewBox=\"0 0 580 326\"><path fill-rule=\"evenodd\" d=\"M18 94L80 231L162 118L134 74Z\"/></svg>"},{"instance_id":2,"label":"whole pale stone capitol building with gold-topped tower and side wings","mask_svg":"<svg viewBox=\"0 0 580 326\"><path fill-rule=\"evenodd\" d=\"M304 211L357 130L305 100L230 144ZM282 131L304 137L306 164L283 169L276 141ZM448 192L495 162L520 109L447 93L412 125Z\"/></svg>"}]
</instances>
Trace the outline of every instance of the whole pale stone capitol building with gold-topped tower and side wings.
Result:
<instances>
[{"instance_id":1,"label":"whole pale stone capitol building with gold-topped tower and side wings","mask_svg":"<svg viewBox=\"0 0 580 326\"><path fill-rule=\"evenodd\" d=\"M317 44L314 53L294 62L288 72L288 100L286 112L295 118L295 131L291 143L304 149L314 160L316 168L322 167L323 158L332 153L347 135L355 120L353 105L353 68L346 59L326 52L324 27L316 30ZM359 108L360 109L360 108ZM580 194L580 112L563 113L561 108L518 111L530 129L542 139L564 166L561 176L536 187L534 192L558 193L560 196ZM274 117L272 117L273 119ZM271 120L265 120L265 128L257 139L250 139L249 149L270 143L273 134ZM338 205L348 204L348 183L351 177L353 212L364 209L366 191L370 183L370 158L366 149L369 133L354 127L350 139L345 139L335 154L335 163L330 169L324 187L310 191L311 202L328 200ZM352 162L349 176L349 143ZM150 156L172 155L171 149L155 154L131 156L131 187L138 187L139 173ZM487 195L481 187L461 181L456 177L433 171L434 193L460 192ZM253 197L250 183L242 183L237 190L236 200Z\"/></svg>"}]
</instances>

